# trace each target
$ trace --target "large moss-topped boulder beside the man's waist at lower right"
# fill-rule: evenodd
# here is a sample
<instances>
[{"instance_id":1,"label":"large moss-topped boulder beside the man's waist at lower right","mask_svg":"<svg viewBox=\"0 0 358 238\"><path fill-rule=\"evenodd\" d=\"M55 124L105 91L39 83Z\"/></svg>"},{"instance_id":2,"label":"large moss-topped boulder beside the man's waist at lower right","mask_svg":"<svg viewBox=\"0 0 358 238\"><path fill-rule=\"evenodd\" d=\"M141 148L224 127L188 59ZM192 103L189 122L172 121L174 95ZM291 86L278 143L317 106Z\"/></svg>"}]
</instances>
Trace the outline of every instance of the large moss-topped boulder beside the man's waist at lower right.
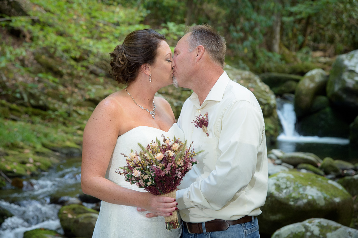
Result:
<instances>
[{"instance_id":1,"label":"large moss-topped boulder beside the man's waist at lower right","mask_svg":"<svg viewBox=\"0 0 358 238\"><path fill-rule=\"evenodd\" d=\"M258 216L260 233L275 230L312 217L349 225L352 196L337 182L313 173L279 172L269 177L265 205Z\"/></svg>"}]
</instances>

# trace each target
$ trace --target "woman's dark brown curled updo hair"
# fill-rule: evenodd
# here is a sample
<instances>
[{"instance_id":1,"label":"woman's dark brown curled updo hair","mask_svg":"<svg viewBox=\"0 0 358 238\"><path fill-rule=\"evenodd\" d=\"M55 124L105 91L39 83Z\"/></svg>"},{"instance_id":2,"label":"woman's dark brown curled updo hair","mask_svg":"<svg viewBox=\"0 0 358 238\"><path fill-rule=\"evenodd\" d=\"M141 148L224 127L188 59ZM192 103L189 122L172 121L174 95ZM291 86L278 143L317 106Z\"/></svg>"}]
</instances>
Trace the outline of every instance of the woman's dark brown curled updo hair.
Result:
<instances>
[{"instance_id":1,"label":"woman's dark brown curled updo hair","mask_svg":"<svg viewBox=\"0 0 358 238\"><path fill-rule=\"evenodd\" d=\"M164 35L153 29L136 30L126 36L121 45L110 53L111 75L118 83L130 84L137 77L140 66L153 65Z\"/></svg>"}]
</instances>

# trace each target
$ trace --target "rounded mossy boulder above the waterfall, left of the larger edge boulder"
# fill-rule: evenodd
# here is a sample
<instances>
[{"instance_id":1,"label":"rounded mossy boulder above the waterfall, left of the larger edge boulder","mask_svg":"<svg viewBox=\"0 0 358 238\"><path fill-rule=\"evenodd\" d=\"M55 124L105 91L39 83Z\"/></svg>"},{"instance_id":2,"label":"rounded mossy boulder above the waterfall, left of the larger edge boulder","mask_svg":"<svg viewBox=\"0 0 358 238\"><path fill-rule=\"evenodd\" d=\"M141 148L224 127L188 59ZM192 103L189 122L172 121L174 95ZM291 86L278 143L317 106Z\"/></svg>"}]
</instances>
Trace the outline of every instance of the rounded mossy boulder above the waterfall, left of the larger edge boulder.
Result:
<instances>
[{"instance_id":1,"label":"rounded mossy boulder above the waterfall, left of the larger edge boulder","mask_svg":"<svg viewBox=\"0 0 358 238\"><path fill-rule=\"evenodd\" d=\"M297 117L309 113L316 95L325 94L327 75L323 69L309 71L298 83L295 91L295 112Z\"/></svg>"}]
</instances>

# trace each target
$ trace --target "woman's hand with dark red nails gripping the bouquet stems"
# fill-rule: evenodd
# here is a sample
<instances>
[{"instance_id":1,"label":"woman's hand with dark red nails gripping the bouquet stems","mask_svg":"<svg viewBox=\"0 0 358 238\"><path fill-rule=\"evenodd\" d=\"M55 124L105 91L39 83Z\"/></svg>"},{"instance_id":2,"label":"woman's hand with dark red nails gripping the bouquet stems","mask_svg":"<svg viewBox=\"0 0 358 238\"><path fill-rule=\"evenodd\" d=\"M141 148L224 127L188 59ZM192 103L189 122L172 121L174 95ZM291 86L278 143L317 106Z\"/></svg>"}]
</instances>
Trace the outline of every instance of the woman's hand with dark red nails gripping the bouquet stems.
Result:
<instances>
[{"instance_id":1,"label":"woman's hand with dark red nails gripping the bouquet stems","mask_svg":"<svg viewBox=\"0 0 358 238\"><path fill-rule=\"evenodd\" d=\"M151 193L145 193L145 202L142 208L137 208L139 212L150 212L146 214L146 217L169 217L173 215L173 212L178 208L174 198L156 196Z\"/></svg>"}]
</instances>

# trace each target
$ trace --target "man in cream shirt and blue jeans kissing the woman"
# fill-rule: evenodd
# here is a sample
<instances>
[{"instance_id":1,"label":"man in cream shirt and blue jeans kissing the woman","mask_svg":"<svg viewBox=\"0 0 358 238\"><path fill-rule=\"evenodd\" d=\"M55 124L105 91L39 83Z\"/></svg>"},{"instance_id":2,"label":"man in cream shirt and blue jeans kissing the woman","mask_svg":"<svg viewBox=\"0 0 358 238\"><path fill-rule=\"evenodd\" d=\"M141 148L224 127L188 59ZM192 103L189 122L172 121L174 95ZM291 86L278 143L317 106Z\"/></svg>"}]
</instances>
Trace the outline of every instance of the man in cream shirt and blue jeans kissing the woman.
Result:
<instances>
[{"instance_id":1,"label":"man in cream shirt and blue jeans kissing the woman","mask_svg":"<svg viewBox=\"0 0 358 238\"><path fill-rule=\"evenodd\" d=\"M190 28L174 49L173 83L194 91L178 125L196 151L204 150L176 192L183 238L259 237L256 216L268 181L265 124L255 96L223 70L225 53L224 38L208 25ZM208 135L192 123L205 113Z\"/></svg>"}]
</instances>

